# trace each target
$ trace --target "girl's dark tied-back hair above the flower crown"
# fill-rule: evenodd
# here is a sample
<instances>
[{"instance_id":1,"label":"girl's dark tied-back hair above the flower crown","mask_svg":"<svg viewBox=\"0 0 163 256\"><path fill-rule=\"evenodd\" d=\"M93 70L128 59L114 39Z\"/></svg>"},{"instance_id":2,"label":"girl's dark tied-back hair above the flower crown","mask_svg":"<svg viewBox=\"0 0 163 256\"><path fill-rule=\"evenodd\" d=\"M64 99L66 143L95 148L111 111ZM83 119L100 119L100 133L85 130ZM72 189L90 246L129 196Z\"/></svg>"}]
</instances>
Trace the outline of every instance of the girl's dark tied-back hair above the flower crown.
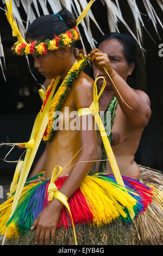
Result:
<instances>
[{"instance_id":1,"label":"girl's dark tied-back hair above the flower crown","mask_svg":"<svg viewBox=\"0 0 163 256\"><path fill-rule=\"evenodd\" d=\"M66 8L62 9L58 15L43 15L36 18L28 27L26 32L26 39L32 38L35 40L45 41L52 40L55 35L59 35L76 26L76 19L72 13Z\"/></svg>"}]
</instances>

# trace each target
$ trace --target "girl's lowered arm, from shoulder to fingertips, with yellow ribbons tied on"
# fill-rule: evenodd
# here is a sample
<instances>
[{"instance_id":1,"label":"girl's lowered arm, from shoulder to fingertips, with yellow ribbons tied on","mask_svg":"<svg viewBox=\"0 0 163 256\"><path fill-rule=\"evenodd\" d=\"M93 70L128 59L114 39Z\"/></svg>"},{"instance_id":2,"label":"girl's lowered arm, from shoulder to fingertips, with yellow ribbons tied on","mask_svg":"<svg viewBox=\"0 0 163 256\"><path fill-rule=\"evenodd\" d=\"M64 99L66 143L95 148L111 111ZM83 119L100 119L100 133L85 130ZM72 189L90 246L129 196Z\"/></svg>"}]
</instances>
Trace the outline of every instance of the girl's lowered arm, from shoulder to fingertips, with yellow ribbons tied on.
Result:
<instances>
[{"instance_id":1,"label":"girl's lowered arm, from shoulder to fingertips, with yellow ribbons tied on","mask_svg":"<svg viewBox=\"0 0 163 256\"><path fill-rule=\"evenodd\" d=\"M90 107L93 101L93 82L88 84L86 79L80 80L80 84L74 86L74 100L77 109L83 107ZM79 117L82 126L82 117ZM86 120L89 120L89 115L86 116ZM93 120L93 118L91 119ZM68 175L66 181L60 188L60 192L63 193L67 198L70 198L72 194L78 189L83 179L89 173L91 167L97 160L97 145L96 145L96 131L94 126L94 121L92 125L92 130L80 130L79 141L73 142L78 143L79 147L84 148L79 152L77 162L80 161L92 161L79 163L73 167L71 173ZM60 211L63 204L58 200L53 198L52 202L43 209L43 211L37 216L33 223L32 229L37 226L35 233L35 243L40 241L40 245L49 243L49 236L51 234L51 242L53 243L55 237L55 229L60 216Z\"/></svg>"}]
</instances>

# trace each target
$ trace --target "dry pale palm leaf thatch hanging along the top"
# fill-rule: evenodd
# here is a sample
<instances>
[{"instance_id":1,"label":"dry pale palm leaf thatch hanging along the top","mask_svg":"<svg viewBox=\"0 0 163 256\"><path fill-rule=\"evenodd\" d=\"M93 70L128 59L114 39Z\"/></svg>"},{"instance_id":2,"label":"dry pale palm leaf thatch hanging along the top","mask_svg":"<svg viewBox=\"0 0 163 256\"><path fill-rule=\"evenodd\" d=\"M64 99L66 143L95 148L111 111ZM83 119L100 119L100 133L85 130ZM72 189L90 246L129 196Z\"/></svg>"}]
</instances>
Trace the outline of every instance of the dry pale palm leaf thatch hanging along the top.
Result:
<instances>
[{"instance_id":1,"label":"dry pale palm leaf thatch hanging along the top","mask_svg":"<svg viewBox=\"0 0 163 256\"><path fill-rule=\"evenodd\" d=\"M144 50L142 45L142 29L146 29L145 24L143 23L143 20L142 20L142 15L147 15L148 19L152 21L152 24L156 33L158 33L158 29L157 29L158 24L163 28L162 22L159 19L159 16L156 14L156 11L152 5L152 1L150 0L142 0L142 3L146 10L146 13L144 14L141 13L136 0L126 0L126 1L123 0L124 2L123 4L129 6L131 10L131 15L133 15L134 17L136 33L133 33L132 29L127 24L126 15L125 13L122 14L119 0L112 0L112 1L98 0L98 1L101 1L107 10L108 25L109 25L110 32L120 32L118 25L122 23L123 26L129 32L129 34L133 36L137 44L140 46L142 52ZM2 2L5 5L5 1L3 0ZM77 18L80 15L80 13L82 13L83 9L86 7L88 2L89 0L12 0L12 8L13 8L13 14L17 22L18 28L20 29L21 34L24 36L30 23L32 23L36 17L39 17L41 15L40 8L42 10L42 13L46 15L46 14L58 13L62 7L65 7L66 9L70 10L74 14L74 16ZM156 3L163 11L163 1L156 0ZM26 16L27 16L26 21L23 21L21 19L20 4L22 5L26 13ZM96 6L96 1L95 3L93 3L93 5ZM51 11L49 11L49 7L51 8ZM90 47L94 48L96 47L95 45L96 38L93 38L91 27L90 27L90 20L97 27L98 31L101 32L102 35L104 33L102 31L102 28L99 27L96 21L96 17L93 14L92 10L90 9L89 13L85 16L85 19L82 21L80 26L83 27L85 38L87 42L89 42ZM80 26L79 26L79 31L81 29ZM85 48L83 40L82 40L82 45ZM1 41L0 41L0 50L1 50L0 51L1 57L3 57L4 59L3 46ZM0 65L3 71L3 66L1 61L0 61Z\"/></svg>"}]
</instances>

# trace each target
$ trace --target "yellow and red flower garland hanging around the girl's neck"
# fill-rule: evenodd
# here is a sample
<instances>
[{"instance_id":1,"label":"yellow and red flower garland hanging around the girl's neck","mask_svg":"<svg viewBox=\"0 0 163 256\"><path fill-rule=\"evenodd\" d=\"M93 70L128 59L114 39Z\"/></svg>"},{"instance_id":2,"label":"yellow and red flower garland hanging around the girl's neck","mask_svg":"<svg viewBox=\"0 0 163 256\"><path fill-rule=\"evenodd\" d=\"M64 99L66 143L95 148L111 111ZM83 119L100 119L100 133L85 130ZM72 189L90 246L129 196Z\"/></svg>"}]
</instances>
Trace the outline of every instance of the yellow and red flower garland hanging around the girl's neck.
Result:
<instances>
[{"instance_id":1,"label":"yellow and red flower garland hanging around the girl's neck","mask_svg":"<svg viewBox=\"0 0 163 256\"><path fill-rule=\"evenodd\" d=\"M61 106L63 105L64 101L65 101L65 96L68 92L68 90L70 89L72 83L77 79L77 77L79 76L80 72L85 68L85 65L87 64L87 60L88 57L86 57L85 59L80 59L77 63L75 62L72 66L72 68L68 71L64 81L62 81L62 83L58 84L57 88L57 92L54 95L54 100L52 102L51 108L49 110L49 121L48 121L48 125L46 127L45 133L43 134L43 141L45 142L51 142L52 138L54 136L54 130L53 130L53 123L55 121L55 119L57 117L55 117L54 112L55 111L59 111L61 109ZM43 111L43 108L45 107L45 104L47 102L48 96L51 93L53 84L55 82L55 78L53 78L51 84L49 84L48 88L47 88L47 92L45 95L45 99L43 100L43 104L41 107L41 112ZM56 91L55 90L55 91Z\"/></svg>"}]
</instances>

